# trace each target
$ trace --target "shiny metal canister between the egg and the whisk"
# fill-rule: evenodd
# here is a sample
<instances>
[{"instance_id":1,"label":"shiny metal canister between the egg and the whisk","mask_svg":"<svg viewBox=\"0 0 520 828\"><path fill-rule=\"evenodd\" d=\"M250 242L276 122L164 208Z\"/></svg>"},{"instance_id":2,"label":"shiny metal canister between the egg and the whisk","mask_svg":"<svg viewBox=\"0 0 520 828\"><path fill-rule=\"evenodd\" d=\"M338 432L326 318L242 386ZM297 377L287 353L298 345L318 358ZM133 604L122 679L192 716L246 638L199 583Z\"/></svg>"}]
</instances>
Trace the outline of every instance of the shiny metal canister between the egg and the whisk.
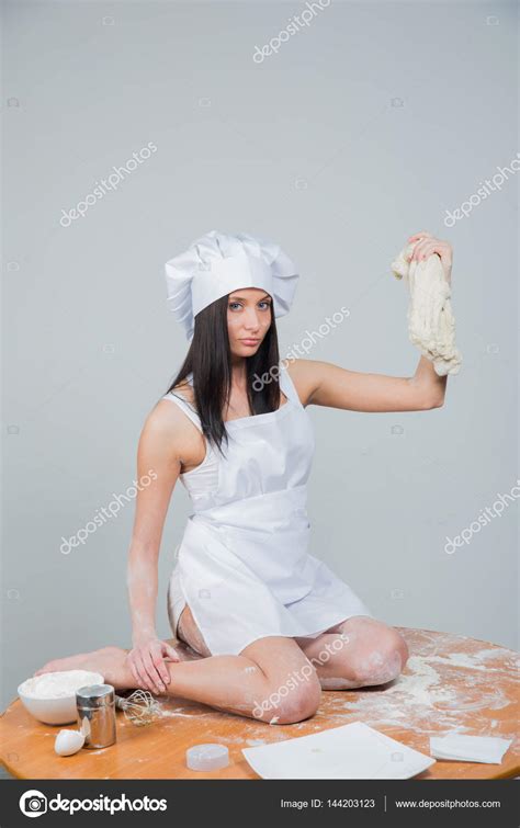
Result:
<instances>
[{"instance_id":1,"label":"shiny metal canister between the egg and the whisk","mask_svg":"<svg viewBox=\"0 0 520 828\"><path fill-rule=\"evenodd\" d=\"M88 684L76 691L78 729L83 748L108 748L116 740L115 691L112 684Z\"/></svg>"}]
</instances>

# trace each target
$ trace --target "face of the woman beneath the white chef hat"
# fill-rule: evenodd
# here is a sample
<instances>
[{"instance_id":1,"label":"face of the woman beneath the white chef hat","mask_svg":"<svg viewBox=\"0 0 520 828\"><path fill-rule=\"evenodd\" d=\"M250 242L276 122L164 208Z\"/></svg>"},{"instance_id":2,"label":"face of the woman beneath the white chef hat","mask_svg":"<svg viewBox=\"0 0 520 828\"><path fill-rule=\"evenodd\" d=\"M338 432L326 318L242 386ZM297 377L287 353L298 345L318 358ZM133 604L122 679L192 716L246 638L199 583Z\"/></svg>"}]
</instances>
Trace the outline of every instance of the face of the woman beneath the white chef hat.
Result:
<instances>
[{"instance_id":1,"label":"face of the woman beneath the white chef hat","mask_svg":"<svg viewBox=\"0 0 520 828\"><path fill-rule=\"evenodd\" d=\"M236 356L251 356L271 325L272 297L260 287L241 287L227 297L229 348Z\"/></svg>"}]
</instances>

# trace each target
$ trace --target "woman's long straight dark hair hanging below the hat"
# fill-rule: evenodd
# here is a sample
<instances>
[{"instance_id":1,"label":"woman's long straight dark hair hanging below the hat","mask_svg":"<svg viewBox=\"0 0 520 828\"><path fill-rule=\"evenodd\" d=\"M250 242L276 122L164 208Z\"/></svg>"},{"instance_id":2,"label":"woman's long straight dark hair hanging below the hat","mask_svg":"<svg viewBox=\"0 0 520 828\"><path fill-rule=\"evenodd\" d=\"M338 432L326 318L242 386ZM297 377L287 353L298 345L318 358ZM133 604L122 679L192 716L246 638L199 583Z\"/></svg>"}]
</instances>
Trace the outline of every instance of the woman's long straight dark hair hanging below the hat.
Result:
<instances>
[{"instance_id":1,"label":"woman's long straight dark hair hanging below the hat","mask_svg":"<svg viewBox=\"0 0 520 828\"><path fill-rule=\"evenodd\" d=\"M194 405L201 420L202 431L222 453L223 441L228 444L228 433L222 411L229 401L231 392L231 352L227 332L228 295L222 296L195 316L195 326L190 350L184 362L168 388L168 394L193 372ZM271 303L271 325L252 356L246 358L247 394L253 415L275 411L280 407L280 362L278 332ZM271 371L275 367L276 371ZM253 383L269 377L256 390Z\"/></svg>"}]
</instances>

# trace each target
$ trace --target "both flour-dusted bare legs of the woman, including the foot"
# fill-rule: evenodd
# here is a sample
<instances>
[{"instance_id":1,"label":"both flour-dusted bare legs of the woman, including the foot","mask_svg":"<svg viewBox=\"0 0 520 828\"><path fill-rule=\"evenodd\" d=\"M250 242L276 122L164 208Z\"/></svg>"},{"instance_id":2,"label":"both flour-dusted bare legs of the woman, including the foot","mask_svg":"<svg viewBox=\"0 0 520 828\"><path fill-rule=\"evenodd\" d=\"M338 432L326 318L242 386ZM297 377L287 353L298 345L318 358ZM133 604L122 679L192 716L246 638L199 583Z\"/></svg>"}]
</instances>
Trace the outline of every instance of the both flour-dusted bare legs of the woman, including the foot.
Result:
<instances>
[{"instance_id":1,"label":"both flour-dusted bare legs of the woman, including the foot","mask_svg":"<svg viewBox=\"0 0 520 828\"><path fill-rule=\"evenodd\" d=\"M179 661L165 661L170 674L167 694L273 724L312 716L321 688L343 690L392 681L408 658L396 629L364 615L348 619L317 638L265 636L238 656L201 657L188 643L176 639L172 646ZM127 690L135 688L128 651L104 647L49 661L34 674L97 670L116 690Z\"/></svg>"}]
</instances>

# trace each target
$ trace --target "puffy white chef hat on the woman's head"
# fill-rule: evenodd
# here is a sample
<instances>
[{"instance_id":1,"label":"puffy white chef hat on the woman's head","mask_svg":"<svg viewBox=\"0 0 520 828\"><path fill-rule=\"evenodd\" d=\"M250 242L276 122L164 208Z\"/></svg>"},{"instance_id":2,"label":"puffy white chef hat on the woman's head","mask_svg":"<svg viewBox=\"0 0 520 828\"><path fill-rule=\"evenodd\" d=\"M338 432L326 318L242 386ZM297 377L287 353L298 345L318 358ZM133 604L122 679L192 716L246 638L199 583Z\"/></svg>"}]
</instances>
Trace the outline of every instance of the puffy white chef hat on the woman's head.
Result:
<instances>
[{"instance_id":1,"label":"puffy white chef hat on the woman's head","mask_svg":"<svg viewBox=\"0 0 520 828\"><path fill-rule=\"evenodd\" d=\"M299 277L280 246L240 232L211 230L166 263L168 304L186 338L194 317L212 302L239 287L260 287L273 297L274 316L291 309Z\"/></svg>"}]
</instances>

